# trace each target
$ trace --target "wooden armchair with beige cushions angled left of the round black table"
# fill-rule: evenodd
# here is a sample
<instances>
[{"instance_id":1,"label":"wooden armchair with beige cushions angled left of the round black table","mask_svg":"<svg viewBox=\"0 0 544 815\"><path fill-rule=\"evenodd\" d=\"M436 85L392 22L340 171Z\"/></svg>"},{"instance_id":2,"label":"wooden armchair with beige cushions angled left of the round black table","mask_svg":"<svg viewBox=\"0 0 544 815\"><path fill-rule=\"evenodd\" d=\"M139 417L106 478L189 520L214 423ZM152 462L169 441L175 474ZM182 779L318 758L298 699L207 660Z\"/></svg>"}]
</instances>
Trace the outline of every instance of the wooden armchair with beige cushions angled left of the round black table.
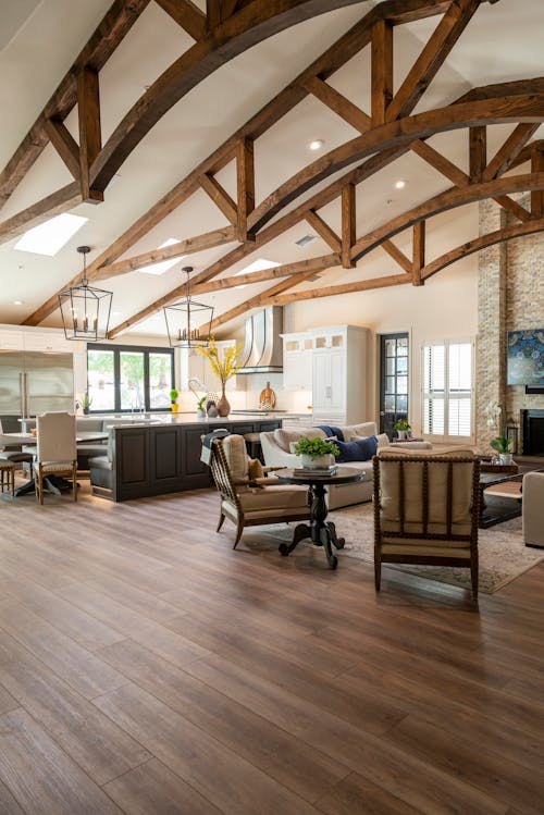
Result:
<instances>
[{"instance_id":1,"label":"wooden armchair with beige cushions angled left of the round black table","mask_svg":"<svg viewBox=\"0 0 544 815\"><path fill-rule=\"evenodd\" d=\"M210 469L221 496L218 532L225 518L236 527L236 548L245 527L308 520L308 489L281 484L265 473L282 469L262 467L247 455L243 436L233 434L217 439L211 445Z\"/></svg>"}]
</instances>

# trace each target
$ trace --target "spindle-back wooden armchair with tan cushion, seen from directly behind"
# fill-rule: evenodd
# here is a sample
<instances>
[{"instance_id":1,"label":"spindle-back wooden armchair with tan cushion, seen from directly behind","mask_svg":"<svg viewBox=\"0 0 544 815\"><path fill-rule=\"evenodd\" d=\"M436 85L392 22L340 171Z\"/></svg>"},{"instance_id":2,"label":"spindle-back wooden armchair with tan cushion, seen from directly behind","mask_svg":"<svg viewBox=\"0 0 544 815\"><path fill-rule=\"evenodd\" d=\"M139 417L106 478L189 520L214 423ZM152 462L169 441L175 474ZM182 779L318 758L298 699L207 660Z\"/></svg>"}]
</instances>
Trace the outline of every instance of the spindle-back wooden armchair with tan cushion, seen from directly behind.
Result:
<instances>
[{"instance_id":1,"label":"spindle-back wooden armchair with tan cushion, seen from directly behind","mask_svg":"<svg viewBox=\"0 0 544 815\"><path fill-rule=\"evenodd\" d=\"M473 455L374 456L374 579L382 564L470 569L478 596L480 461Z\"/></svg>"}]
</instances>

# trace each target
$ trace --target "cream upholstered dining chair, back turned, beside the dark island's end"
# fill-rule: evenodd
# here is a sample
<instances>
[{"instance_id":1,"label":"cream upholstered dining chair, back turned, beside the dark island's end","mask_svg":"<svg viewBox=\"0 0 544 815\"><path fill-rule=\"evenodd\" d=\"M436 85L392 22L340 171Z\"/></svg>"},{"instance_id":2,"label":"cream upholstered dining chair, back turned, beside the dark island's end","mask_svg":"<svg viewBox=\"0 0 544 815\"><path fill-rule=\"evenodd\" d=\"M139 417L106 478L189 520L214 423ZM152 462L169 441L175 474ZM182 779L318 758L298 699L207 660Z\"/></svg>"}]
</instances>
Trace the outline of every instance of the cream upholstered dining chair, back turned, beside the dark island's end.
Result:
<instances>
[{"instance_id":1,"label":"cream upholstered dining chair, back turned, beside the dark island's end","mask_svg":"<svg viewBox=\"0 0 544 815\"><path fill-rule=\"evenodd\" d=\"M36 460L33 464L36 498L44 504L44 480L48 476L72 479L74 501L77 501L77 450L75 416L66 412L44 413L37 417Z\"/></svg>"}]
</instances>

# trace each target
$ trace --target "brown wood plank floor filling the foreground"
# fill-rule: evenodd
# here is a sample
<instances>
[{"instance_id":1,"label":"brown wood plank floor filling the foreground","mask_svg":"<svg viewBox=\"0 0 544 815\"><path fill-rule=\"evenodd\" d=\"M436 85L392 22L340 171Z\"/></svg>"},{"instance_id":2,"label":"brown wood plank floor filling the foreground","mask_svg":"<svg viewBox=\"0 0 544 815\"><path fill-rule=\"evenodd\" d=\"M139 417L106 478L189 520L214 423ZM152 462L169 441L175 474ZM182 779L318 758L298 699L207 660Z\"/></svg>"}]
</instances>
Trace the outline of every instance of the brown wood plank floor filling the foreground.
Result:
<instances>
[{"instance_id":1,"label":"brown wood plank floor filling the foreground","mask_svg":"<svg viewBox=\"0 0 544 815\"><path fill-rule=\"evenodd\" d=\"M542 815L544 563L231 548L218 496L0 498L0 815Z\"/></svg>"}]
</instances>

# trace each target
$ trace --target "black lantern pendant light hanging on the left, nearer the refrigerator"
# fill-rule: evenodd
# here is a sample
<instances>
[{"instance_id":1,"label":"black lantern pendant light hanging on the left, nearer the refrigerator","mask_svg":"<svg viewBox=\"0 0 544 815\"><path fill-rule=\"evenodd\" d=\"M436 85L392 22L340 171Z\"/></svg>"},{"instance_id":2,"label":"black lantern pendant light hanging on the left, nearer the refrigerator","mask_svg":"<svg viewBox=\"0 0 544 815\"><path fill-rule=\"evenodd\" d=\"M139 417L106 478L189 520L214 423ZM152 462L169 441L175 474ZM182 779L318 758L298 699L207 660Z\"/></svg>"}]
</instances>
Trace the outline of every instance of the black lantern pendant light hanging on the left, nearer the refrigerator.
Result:
<instances>
[{"instance_id":1,"label":"black lantern pendant light hanging on the left, nearer the refrigerator","mask_svg":"<svg viewBox=\"0 0 544 815\"><path fill-rule=\"evenodd\" d=\"M96 343L108 338L112 292L89 286L87 281L86 256L90 246L78 246L83 255L83 277L77 286L65 288L59 294L59 307L66 339L85 339Z\"/></svg>"}]
</instances>

